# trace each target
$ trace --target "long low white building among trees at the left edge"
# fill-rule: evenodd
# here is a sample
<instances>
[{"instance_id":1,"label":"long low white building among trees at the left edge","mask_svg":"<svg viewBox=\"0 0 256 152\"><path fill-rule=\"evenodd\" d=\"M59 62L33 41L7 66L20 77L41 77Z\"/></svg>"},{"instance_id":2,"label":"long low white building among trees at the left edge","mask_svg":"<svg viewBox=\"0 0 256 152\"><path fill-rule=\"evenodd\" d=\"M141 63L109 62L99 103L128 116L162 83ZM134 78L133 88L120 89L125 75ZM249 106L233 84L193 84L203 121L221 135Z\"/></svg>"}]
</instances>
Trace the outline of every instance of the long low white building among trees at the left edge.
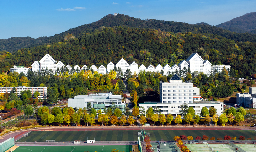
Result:
<instances>
[{"instance_id":1,"label":"long low white building among trees at the left edge","mask_svg":"<svg viewBox=\"0 0 256 152\"><path fill-rule=\"evenodd\" d=\"M38 99L40 98L46 98L47 95L47 87L24 87L19 86L15 87L17 95L20 96L21 91L24 90L30 90L32 93L32 96L34 95L34 92L38 91L40 93L40 96L38 96ZM12 91L13 87L0 87L0 93L10 93Z\"/></svg>"}]
</instances>

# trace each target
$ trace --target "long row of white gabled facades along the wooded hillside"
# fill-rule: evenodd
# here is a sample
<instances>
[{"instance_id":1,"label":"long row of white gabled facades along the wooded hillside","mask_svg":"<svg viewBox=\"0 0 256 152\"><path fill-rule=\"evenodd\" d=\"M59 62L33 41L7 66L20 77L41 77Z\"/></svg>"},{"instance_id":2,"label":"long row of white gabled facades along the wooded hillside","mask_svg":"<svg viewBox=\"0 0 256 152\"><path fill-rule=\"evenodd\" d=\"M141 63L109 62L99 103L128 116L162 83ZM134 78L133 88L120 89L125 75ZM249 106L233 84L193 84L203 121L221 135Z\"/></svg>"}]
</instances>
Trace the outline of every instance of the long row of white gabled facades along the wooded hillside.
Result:
<instances>
[{"instance_id":1,"label":"long row of white gabled facades along the wooded hillside","mask_svg":"<svg viewBox=\"0 0 256 152\"><path fill-rule=\"evenodd\" d=\"M57 69L57 67L59 67L59 69L61 67L64 67L64 64L62 62L56 62L52 56L50 56L49 54L46 54L39 62L35 61L32 65L32 71L41 71L42 68L46 69L46 67L49 69L52 69L54 74L55 71ZM91 68L94 71L98 71L100 74L105 74L107 72L110 72L111 70L114 69L114 67L116 67L118 69L118 67L120 67L124 72L126 72L127 69L130 69L130 71L132 72L132 74L134 74L134 72L138 73L139 71L149 71L149 72L161 72L162 70L164 71L164 74L166 75L168 71L172 72L178 72L180 70L183 70L185 67L186 69L190 68L191 72L194 71L198 71L198 72L203 72L204 74L209 75L210 72L214 71L215 69L217 69L218 72L221 72L223 67L226 67L226 69L231 69L230 65L213 65L208 61L208 60L203 60L201 58L201 56L197 53L193 53L190 55L190 57L185 61L180 61L180 63L177 65L173 65L172 67L168 64L166 64L164 67L162 67L160 64L157 65L156 67L154 67L153 65L149 65L148 67L145 67L144 65L140 65L138 68L138 64L133 62L132 64L128 64L126 60L124 60L123 58L121 60L118 61L118 63L116 65L114 65L112 62L108 63L107 68L104 67L103 65L101 65L99 67L99 69L95 66L92 65ZM69 71L71 71L71 66L67 65L66 66ZM105 68L105 69L104 69ZM87 66L84 65L81 69L78 65L75 65L75 69L87 69Z\"/></svg>"}]
</instances>

